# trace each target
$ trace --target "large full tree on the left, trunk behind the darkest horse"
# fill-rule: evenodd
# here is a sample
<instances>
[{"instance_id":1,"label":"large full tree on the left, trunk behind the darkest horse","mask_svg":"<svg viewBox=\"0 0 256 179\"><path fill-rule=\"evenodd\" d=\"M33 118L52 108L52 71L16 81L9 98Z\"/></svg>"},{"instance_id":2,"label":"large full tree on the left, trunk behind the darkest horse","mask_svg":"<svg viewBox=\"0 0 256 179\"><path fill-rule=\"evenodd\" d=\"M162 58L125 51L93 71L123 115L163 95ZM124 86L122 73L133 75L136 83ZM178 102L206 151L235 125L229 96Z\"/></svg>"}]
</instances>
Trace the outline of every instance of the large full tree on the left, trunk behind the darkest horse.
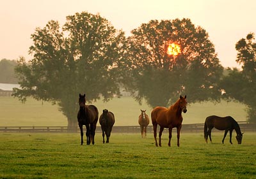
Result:
<instances>
[{"instance_id":1,"label":"large full tree on the left, trunk behind the darkest horse","mask_svg":"<svg viewBox=\"0 0 256 179\"><path fill-rule=\"evenodd\" d=\"M15 69L21 89L15 89L14 96L21 101L28 96L52 101L67 117L68 127L77 127L79 93L85 93L88 102L120 95L118 66L125 36L105 18L76 13L62 29L51 20L31 38L33 59L27 63L20 58Z\"/></svg>"}]
</instances>

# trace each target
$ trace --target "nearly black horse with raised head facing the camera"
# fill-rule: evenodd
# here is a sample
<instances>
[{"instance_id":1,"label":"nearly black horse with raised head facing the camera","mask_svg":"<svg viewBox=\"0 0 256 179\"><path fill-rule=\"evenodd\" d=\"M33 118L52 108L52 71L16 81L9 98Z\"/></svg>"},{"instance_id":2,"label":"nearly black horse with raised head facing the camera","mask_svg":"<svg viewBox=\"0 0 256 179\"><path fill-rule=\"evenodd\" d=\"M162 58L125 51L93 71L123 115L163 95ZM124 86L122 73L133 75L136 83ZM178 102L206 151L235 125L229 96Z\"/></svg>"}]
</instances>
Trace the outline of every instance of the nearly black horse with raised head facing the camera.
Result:
<instances>
[{"instance_id":1,"label":"nearly black horse with raised head facing the camera","mask_svg":"<svg viewBox=\"0 0 256 179\"><path fill-rule=\"evenodd\" d=\"M83 125L86 126L86 143L94 144L95 129L99 118L99 111L96 106L86 105L85 94L79 94L79 111L77 121L81 132L81 145L83 145Z\"/></svg>"}]
</instances>

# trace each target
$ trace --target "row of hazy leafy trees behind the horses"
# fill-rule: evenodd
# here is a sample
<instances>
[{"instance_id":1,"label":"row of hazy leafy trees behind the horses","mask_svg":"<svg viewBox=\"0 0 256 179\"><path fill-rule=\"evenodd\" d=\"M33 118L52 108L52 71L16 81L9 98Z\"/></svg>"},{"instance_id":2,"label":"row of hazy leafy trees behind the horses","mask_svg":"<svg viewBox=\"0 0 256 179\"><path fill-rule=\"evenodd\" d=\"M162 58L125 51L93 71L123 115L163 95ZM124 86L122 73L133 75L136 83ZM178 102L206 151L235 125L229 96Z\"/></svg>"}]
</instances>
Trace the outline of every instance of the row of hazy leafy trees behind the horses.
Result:
<instances>
[{"instance_id":1,"label":"row of hazy leafy trees behind the horses","mask_svg":"<svg viewBox=\"0 0 256 179\"><path fill-rule=\"evenodd\" d=\"M121 96L120 87L152 107L168 106L180 94L187 94L189 103L237 100L248 106L248 120L256 119L252 32L236 43L242 70L229 68L228 73L223 73L209 34L189 18L150 20L126 37L106 18L82 12L67 16L62 27L49 21L31 39L33 58L19 58L15 73L21 89L13 96L58 104L69 127L77 126L79 93L88 102L109 101ZM170 43L179 45L179 54L166 53Z\"/></svg>"}]
</instances>

